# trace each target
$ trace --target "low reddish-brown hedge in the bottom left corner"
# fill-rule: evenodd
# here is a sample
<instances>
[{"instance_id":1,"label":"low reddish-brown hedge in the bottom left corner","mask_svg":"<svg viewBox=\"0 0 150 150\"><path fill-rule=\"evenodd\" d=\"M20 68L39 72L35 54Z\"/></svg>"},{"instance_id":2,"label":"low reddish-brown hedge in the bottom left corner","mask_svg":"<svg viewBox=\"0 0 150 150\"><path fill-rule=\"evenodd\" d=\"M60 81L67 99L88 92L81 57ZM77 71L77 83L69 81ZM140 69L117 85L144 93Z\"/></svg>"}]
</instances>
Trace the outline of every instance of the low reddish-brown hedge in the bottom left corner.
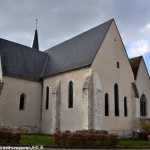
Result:
<instances>
[{"instance_id":1,"label":"low reddish-brown hedge in the bottom left corner","mask_svg":"<svg viewBox=\"0 0 150 150\"><path fill-rule=\"evenodd\" d=\"M20 133L13 133L11 129L0 129L0 143L19 144L21 140Z\"/></svg>"}]
</instances>

